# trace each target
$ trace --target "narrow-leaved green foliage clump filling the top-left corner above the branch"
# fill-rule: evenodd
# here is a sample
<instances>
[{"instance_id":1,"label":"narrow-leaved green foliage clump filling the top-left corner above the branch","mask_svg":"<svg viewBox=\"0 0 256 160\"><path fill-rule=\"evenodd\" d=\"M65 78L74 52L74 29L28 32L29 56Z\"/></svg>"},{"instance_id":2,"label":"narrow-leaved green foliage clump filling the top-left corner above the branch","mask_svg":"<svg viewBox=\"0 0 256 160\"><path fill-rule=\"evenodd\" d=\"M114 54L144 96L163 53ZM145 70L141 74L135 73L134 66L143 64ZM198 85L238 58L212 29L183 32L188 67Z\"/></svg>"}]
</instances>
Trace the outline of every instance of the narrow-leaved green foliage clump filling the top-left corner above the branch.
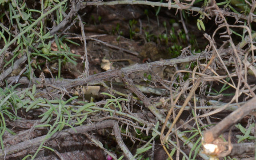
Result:
<instances>
[{"instance_id":1,"label":"narrow-leaved green foliage clump filling the top-left corner above the branch","mask_svg":"<svg viewBox=\"0 0 256 160\"><path fill-rule=\"evenodd\" d=\"M4 6L8 8L6 13L9 14L2 15L2 18L8 18L8 20L10 20L10 25L9 28L0 26L4 29L0 32L0 37L5 43L5 47L0 51L0 54L2 54L8 46L14 42L17 44L16 48L12 51L14 54L12 59L5 61L6 64L4 65L4 68L9 64L13 64L14 59L17 56L24 54L27 55L29 62L34 60L35 57L43 57L49 61L57 60L60 62L60 65L61 62L71 62L76 64L74 60L76 60L75 57L78 55L74 55L70 52L70 48L68 48L67 44L64 43L65 36L59 37L57 35L50 35L50 32L47 32L46 26L48 19L45 17L54 12L56 13L56 24L59 24L63 20L62 13L68 8L67 3L65 3L66 1L67 0L59 2L57 5L53 5L52 1L45 1L44 5L41 5L40 10L28 8L26 2L23 3L22 1L17 0L12 0L12 3L4 4ZM46 12L44 11L45 8L51 9L48 9ZM38 14L41 16L35 16ZM38 23L40 25L36 25ZM18 35L15 35L14 32L9 32L12 29L12 26L16 26L15 29L17 29L17 32L19 33ZM51 42L49 40L53 37L58 47L58 51L51 51ZM70 42L71 40L68 41ZM48 44L46 44L46 42L48 42ZM32 63L28 63L28 69L24 72L30 79L34 76L32 68L40 69L40 64L37 60L38 59L36 59L36 63L33 63L33 66ZM59 78L60 65L58 67Z\"/></svg>"}]
</instances>

